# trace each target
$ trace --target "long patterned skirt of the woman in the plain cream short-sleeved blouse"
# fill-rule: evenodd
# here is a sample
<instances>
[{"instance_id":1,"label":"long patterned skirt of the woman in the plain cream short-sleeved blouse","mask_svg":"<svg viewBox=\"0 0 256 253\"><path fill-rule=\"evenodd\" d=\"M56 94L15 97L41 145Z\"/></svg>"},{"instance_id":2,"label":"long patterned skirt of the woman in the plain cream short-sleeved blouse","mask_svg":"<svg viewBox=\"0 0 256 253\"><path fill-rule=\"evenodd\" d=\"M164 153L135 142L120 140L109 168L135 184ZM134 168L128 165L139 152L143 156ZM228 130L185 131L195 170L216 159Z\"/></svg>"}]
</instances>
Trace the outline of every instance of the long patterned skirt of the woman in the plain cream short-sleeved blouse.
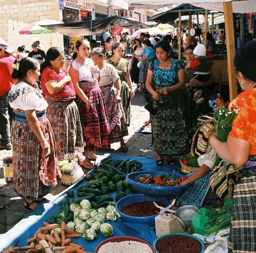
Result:
<instances>
[{"instance_id":1,"label":"long patterned skirt of the woman in the plain cream short-sleeved blouse","mask_svg":"<svg viewBox=\"0 0 256 253\"><path fill-rule=\"evenodd\" d=\"M115 103L117 90L113 83L101 87L101 91L104 96L108 112L111 143L120 142L124 136L128 135L122 102L119 102L118 104Z\"/></svg>"}]
</instances>

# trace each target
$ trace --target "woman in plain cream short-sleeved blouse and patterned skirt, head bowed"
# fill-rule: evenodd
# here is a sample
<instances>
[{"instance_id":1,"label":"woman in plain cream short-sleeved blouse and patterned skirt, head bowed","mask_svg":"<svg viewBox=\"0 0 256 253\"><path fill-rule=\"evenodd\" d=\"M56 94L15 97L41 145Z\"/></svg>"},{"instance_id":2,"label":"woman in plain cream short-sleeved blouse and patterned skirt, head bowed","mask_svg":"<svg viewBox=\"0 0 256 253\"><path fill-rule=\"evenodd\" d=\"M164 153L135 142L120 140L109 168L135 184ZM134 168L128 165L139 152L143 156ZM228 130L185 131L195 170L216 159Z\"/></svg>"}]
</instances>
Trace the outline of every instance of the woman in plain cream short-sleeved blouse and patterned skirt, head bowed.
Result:
<instances>
[{"instance_id":1,"label":"woman in plain cream short-sleeved blouse and patterned skirt, head bowed","mask_svg":"<svg viewBox=\"0 0 256 253\"><path fill-rule=\"evenodd\" d=\"M102 48L94 48L91 52L91 56L94 63L100 69L99 86L102 90L108 111L111 143L120 142L122 148L125 146L123 137L128 135L128 129L120 97L120 77L113 65L105 63L105 54ZM116 85L116 88L114 84Z\"/></svg>"}]
</instances>

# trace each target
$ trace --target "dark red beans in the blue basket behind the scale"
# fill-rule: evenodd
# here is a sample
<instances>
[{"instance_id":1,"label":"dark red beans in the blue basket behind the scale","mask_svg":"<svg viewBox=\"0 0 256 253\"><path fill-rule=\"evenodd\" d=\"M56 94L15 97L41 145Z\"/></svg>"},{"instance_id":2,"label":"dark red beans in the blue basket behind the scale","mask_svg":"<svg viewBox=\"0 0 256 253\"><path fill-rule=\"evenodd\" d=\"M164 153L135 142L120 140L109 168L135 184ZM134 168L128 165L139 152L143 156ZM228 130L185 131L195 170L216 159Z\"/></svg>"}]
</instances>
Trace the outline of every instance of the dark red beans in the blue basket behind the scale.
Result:
<instances>
[{"instance_id":1,"label":"dark red beans in the blue basket behind the scale","mask_svg":"<svg viewBox=\"0 0 256 253\"><path fill-rule=\"evenodd\" d=\"M161 207L166 207L166 205L161 202L156 203ZM129 216L145 217L156 215L156 212L160 212L160 209L154 205L153 201L148 201L125 205L121 208L121 212Z\"/></svg>"}]
</instances>

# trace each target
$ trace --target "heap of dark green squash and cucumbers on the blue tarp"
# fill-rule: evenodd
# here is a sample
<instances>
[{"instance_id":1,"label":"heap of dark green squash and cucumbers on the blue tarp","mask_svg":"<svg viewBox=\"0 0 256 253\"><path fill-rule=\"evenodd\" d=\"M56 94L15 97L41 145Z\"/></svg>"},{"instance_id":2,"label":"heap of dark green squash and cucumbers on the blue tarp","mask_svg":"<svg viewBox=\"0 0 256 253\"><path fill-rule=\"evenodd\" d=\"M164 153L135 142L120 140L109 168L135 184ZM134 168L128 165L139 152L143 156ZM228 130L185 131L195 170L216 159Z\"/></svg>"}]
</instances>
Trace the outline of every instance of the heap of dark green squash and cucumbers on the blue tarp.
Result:
<instances>
[{"instance_id":1,"label":"heap of dark green squash and cucumbers on the blue tarp","mask_svg":"<svg viewBox=\"0 0 256 253\"><path fill-rule=\"evenodd\" d=\"M89 183L77 188L79 192L77 196L87 196L86 193L97 193L99 195L100 192L104 195L111 191L117 191L117 202L122 197L134 193L130 184L125 180L125 176L131 172L142 171L141 166L142 164L135 160L105 158L101 161L94 174L85 176Z\"/></svg>"}]
</instances>

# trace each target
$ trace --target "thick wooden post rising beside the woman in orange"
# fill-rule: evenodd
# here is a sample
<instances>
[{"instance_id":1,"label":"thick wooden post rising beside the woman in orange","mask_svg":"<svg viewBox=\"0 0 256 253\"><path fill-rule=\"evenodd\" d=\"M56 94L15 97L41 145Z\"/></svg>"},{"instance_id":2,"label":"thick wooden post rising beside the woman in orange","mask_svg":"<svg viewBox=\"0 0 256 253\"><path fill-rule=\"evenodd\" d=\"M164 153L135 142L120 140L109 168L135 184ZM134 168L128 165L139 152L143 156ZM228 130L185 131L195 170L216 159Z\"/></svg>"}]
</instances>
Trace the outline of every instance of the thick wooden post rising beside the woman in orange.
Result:
<instances>
[{"instance_id":1,"label":"thick wooden post rising beside the woman in orange","mask_svg":"<svg viewBox=\"0 0 256 253\"><path fill-rule=\"evenodd\" d=\"M227 40L228 82L229 82L230 101L231 101L238 94L236 71L234 66L235 34L234 34L232 2L223 3L223 9L224 9L224 20L225 20L225 33L226 33L226 40Z\"/></svg>"}]
</instances>

